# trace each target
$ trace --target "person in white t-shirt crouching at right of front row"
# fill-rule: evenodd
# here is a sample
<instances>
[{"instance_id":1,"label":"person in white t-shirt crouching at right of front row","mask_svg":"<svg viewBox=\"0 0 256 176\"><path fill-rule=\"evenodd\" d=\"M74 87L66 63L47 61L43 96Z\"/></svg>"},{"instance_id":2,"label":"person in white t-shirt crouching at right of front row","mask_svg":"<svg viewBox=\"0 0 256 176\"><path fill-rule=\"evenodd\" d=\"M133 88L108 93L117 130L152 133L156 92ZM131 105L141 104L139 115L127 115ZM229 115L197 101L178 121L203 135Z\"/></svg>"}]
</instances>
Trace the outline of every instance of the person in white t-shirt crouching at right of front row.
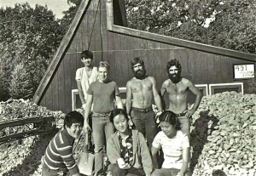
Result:
<instances>
[{"instance_id":1,"label":"person in white t-shirt crouching at right of front row","mask_svg":"<svg viewBox=\"0 0 256 176\"><path fill-rule=\"evenodd\" d=\"M154 168L158 167L157 154L160 148L164 162L151 176L190 176L188 135L177 130L177 116L172 111L164 111L159 120L161 131L154 137L151 153Z\"/></svg>"}]
</instances>

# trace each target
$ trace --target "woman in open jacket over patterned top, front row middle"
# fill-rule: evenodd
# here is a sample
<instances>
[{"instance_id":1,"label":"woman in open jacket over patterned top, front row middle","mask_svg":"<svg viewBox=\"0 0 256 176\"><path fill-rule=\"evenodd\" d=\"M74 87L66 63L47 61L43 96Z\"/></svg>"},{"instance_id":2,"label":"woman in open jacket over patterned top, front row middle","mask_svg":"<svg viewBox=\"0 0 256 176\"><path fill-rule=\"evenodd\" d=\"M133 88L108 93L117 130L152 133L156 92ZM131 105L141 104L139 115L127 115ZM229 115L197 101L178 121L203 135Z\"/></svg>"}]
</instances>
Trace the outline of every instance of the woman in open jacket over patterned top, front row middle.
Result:
<instances>
[{"instance_id":1,"label":"woman in open jacket over patterned top, front row middle","mask_svg":"<svg viewBox=\"0 0 256 176\"><path fill-rule=\"evenodd\" d=\"M125 110L111 111L110 122L113 122L116 130L107 142L112 175L149 176L153 165L143 133L129 128L129 117Z\"/></svg>"}]
</instances>

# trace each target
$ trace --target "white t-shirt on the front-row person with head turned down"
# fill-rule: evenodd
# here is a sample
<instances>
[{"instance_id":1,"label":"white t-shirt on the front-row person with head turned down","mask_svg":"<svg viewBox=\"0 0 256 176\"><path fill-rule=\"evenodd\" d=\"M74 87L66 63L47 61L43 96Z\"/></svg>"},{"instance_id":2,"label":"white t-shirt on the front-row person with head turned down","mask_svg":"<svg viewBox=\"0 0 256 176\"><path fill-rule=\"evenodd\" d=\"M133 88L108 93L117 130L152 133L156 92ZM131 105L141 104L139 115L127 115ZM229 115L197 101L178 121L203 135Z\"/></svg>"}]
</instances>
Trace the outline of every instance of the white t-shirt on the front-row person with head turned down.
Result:
<instances>
[{"instance_id":1,"label":"white t-shirt on the front-row person with head turned down","mask_svg":"<svg viewBox=\"0 0 256 176\"><path fill-rule=\"evenodd\" d=\"M168 138L162 131L156 134L152 144L155 148L163 150L165 161L163 168L181 169L183 166L183 149L189 147L189 138L187 134L177 131L172 139Z\"/></svg>"}]
</instances>

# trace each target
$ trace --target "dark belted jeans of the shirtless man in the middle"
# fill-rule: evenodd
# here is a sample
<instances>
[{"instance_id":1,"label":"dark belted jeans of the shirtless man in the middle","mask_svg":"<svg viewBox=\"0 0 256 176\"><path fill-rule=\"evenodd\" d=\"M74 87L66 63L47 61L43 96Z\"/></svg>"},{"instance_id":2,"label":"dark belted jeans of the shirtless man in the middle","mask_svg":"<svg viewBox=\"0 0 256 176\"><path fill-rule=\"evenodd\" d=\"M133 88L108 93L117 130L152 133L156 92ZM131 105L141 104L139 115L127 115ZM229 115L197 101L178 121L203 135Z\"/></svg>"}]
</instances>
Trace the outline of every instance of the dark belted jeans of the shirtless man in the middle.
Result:
<instances>
[{"instance_id":1,"label":"dark belted jeans of the shirtless man in the middle","mask_svg":"<svg viewBox=\"0 0 256 176\"><path fill-rule=\"evenodd\" d=\"M143 133L148 142L148 148L151 149L154 137L157 133L157 124L155 122L155 113L153 110L140 112L131 110L131 119L135 128Z\"/></svg>"}]
</instances>

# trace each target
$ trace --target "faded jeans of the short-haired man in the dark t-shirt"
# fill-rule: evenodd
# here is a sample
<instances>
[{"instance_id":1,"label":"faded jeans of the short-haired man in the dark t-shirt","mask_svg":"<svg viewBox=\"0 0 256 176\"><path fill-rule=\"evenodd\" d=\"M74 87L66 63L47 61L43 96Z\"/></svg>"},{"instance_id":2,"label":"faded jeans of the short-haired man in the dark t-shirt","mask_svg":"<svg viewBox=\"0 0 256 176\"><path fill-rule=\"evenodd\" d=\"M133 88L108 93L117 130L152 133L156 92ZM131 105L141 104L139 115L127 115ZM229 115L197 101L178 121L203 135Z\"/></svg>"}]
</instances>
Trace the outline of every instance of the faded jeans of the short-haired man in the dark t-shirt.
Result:
<instances>
[{"instance_id":1,"label":"faded jeans of the short-haired man in the dark t-shirt","mask_svg":"<svg viewBox=\"0 0 256 176\"><path fill-rule=\"evenodd\" d=\"M108 115L92 114L92 135L95 144L95 173L102 173L103 169L103 146L105 141L113 134L113 123ZM105 145L106 146L106 145Z\"/></svg>"}]
</instances>

